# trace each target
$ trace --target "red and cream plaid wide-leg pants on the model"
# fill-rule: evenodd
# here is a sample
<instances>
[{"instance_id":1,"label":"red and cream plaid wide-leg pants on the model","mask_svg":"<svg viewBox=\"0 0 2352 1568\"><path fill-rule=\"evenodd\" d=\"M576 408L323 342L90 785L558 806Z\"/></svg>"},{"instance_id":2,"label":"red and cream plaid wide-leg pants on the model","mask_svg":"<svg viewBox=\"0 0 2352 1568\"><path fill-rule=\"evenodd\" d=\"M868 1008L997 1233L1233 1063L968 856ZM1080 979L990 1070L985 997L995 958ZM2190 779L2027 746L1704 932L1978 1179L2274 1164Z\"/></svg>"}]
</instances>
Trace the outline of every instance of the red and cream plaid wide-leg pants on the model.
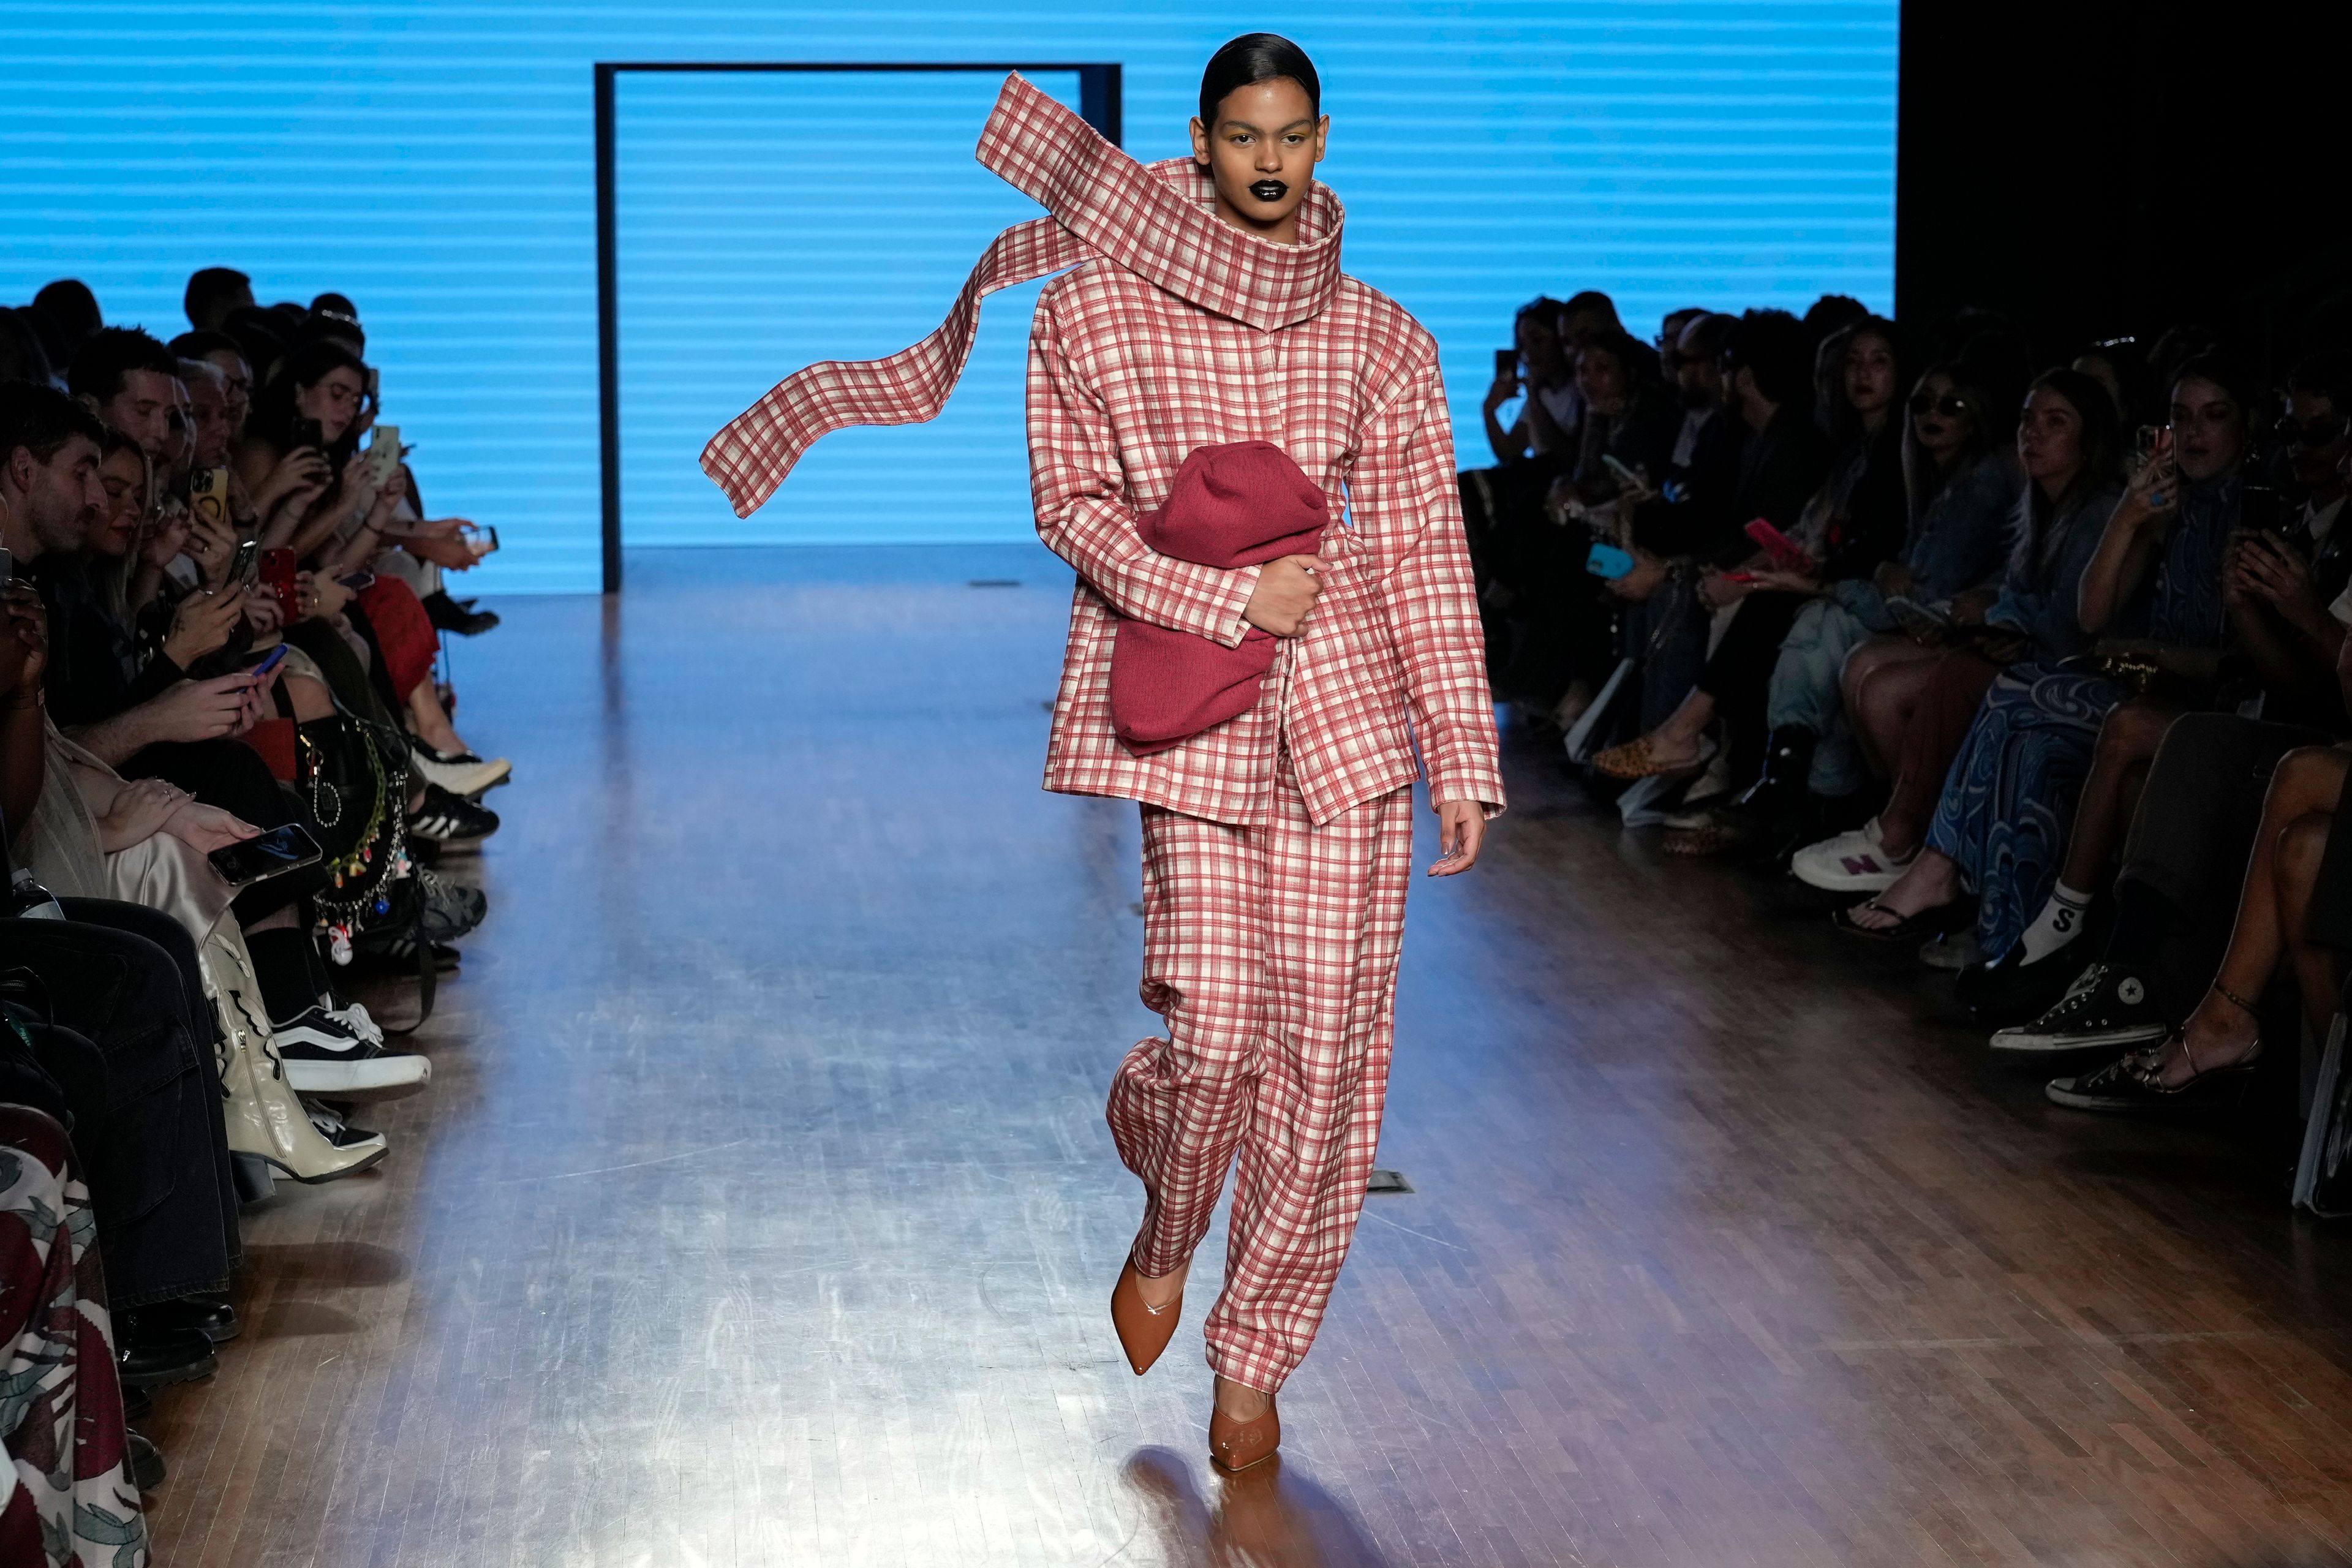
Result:
<instances>
[{"instance_id":1,"label":"red and cream plaid wide-leg pants on the model","mask_svg":"<svg viewBox=\"0 0 2352 1568\"><path fill-rule=\"evenodd\" d=\"M1317 827L1282 759L1265 827L1143 806L1143 1004L1167 1018L1110 1081L1143 1178L1134 1262L1174 1272L1240 1154L1209 1366L1279 1389L1364 1208L1395 1027L1414 792Z\"/></svg>"}]
</instances>

